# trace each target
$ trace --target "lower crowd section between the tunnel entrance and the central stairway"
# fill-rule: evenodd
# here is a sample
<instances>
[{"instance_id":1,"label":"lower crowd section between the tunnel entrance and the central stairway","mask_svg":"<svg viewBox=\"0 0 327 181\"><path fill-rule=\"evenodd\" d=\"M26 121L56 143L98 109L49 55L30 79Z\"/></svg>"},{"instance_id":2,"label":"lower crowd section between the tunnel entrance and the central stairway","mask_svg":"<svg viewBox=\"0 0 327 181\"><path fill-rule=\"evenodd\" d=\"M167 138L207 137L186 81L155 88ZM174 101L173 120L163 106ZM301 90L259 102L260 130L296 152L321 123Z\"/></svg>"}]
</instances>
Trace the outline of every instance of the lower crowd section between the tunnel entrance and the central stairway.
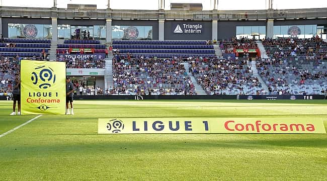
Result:
<instances>
[{"instance_id":1,"label":"lower crowd section between the tunnel entrance and the central stairway","mask_svg":"<svg viewBox=\"0 0 327 181\"><path fill-rule=\"evenodd\" d=\"M113 59L111 95L196 95L181 59Z\"/></svg>"}]
</instances>

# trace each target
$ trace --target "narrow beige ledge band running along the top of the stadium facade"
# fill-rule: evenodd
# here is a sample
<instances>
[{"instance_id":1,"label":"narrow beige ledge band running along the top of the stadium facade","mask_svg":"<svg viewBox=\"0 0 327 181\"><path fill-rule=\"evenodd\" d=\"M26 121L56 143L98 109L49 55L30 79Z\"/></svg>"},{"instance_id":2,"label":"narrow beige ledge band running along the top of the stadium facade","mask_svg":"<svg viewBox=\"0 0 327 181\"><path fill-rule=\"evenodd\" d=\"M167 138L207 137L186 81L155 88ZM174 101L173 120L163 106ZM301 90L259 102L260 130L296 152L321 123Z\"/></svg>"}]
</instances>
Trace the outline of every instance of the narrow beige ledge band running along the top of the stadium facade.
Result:
<instances>
[{"instance_id":1,"label":"narrow beige ledge band running along the top of the stadium facade","mask_svg":"<svg viewBox=\"0 0 327 181\"><path fill-rule=\"evenodd\" d=\"M78 10L57 8L0 7L2 17L86 18L86 19L166 19L166 20L267 20L325 18L327 8L249 11L164 11L164 10Z\"/></svg>"}]
</instances>

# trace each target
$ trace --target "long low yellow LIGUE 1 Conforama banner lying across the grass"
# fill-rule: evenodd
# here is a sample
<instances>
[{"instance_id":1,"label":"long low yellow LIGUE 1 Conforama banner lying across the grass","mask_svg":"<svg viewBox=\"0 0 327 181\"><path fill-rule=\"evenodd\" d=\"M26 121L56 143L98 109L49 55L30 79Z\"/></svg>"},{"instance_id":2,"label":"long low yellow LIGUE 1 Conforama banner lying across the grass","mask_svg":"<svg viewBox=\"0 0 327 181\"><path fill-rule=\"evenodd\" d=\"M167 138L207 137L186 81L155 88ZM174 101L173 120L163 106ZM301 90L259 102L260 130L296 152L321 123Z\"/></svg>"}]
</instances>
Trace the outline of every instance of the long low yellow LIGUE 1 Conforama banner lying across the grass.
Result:
<instances>
[{"instance_id":1,"label":"long low yellow LIGUE 1 Conforama banner lying across the grass","mask_svg":"<svg viewBox=\"0 0 327 181\"><path fill-rule=\"evenodd\" d=\"M326 133L322 120L303 118L100 118L99 134Z\"/></svg>"}]
</instances>

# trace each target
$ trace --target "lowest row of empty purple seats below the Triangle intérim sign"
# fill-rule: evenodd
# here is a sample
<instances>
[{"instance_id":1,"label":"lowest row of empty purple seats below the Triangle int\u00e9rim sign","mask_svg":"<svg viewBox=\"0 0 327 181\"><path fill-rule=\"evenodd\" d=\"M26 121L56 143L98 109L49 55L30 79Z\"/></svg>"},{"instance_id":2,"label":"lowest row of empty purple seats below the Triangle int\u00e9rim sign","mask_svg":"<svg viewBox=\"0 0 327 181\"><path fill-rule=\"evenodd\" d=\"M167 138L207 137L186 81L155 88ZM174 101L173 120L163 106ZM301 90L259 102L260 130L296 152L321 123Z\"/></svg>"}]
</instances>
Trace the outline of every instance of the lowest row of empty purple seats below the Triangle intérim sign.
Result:
<instances>
[{"instance_id":1,"label":"lowest row of empty purple seats below the Triangle int\u00e9rim sign","mask_svg":"<svg viewBox=\"0 0 327 181\"><path fill-rule=\"evenodd\" d=\"M173 49L173 50L157 50L157 49L120 49L119 53L215 53L213 49Z\"/></svg>"}]
</instances>

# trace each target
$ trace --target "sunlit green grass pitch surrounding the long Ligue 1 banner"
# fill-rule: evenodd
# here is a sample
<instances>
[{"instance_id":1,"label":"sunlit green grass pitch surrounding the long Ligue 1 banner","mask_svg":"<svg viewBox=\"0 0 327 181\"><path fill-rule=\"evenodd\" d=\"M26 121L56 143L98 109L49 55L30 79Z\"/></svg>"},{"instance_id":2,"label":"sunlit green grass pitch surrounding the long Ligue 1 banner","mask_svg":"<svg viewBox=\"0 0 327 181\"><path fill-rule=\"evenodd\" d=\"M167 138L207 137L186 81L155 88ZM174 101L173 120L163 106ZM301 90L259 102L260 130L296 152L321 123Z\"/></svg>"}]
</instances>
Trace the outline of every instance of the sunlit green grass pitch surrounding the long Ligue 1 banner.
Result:
<instances>
[{"instance_id":1,"label":"sunlit green grass pitch surrounding the long Ligue 1 banner","mask_svg":"<svg viewBox=\"0 0 327 181\"><path fill-rule=\"evenodd\" d=\"M326 134L98 135L98 118L322 119L327 101L75 101L0 138L0 180L326 180ZM9 116L0 134L35 116Z\"/></svg>"}]
</instances>

